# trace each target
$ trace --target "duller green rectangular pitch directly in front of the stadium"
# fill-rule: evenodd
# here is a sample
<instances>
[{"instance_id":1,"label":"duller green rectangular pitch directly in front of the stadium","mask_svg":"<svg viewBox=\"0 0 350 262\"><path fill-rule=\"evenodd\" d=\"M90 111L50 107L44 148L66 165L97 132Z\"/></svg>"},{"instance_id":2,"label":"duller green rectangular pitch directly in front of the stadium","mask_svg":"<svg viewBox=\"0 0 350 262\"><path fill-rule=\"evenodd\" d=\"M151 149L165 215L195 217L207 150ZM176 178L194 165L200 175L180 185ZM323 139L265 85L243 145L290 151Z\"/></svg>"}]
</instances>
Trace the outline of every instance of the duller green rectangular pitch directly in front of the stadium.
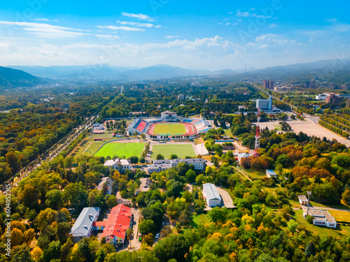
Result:
<instances>
[{"instance_id":1,"label":"duller green rectangular pitch directly in front of the stadium","mask_svg":"<svg viewBox=\"0 0 350 262\"><path fill-rule=\"evenodd\" d=\"M155 159L158 154L162 154L165 159L169 159L171 154L177 157L195 157L195 151L192 145L153 145L151 159Z\"/></svg>"}]
</instances>

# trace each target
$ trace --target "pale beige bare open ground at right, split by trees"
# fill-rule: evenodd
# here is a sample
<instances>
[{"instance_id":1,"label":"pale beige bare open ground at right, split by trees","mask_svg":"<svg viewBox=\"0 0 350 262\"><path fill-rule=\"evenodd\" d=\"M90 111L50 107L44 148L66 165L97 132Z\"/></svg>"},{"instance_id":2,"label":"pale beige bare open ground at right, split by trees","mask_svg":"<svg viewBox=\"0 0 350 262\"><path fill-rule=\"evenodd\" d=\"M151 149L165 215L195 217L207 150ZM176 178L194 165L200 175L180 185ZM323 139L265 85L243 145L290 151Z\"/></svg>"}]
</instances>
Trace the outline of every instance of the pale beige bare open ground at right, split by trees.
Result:
<instances>
[{"instance_id":1,"label":"pale beige bare open ground at right, split by trees","mask_svg":"<svg viewBox=\"0 0 350 262\"><path fill-rule=\"evenodd\" d=\"M305 118L305 120L292 120L287 121L287 123L291 126L292 131L294 133L302 132L306 133L307 136L316 136L321 139L325 137L328 140L332 140L333 138L335 138L339 143L346 145L346 147L350 147L350 140L343 138L342 136L339 136L328 129L325 129L323 126L316 124L307 117ZM273 130L275 129L276 125L279 125L279 122L280 121L261 122L260 129L265 129L267 127L269 130Z\"/></svg>"}]
</instances>

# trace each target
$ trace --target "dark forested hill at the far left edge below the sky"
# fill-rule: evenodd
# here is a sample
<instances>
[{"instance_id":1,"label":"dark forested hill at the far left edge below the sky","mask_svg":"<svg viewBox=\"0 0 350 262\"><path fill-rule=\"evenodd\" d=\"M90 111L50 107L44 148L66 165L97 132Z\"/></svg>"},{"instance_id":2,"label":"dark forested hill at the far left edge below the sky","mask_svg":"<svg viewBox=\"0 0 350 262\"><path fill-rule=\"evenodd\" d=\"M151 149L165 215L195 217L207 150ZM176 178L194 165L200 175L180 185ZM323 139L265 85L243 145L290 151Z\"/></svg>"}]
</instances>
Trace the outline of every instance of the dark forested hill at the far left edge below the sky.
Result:
<instances>
[{"instance_id":1,"label":"dark forested hill at the far left edge below the sky","mask_svg":"<svg viewBox=\"0 0 350 262\"><path fill-rule=\"evenodd\" d=\"M42 85L46 80L12 68L0 66L0 89L15 87L32 87Z\"/></svg>"}]
</instances>

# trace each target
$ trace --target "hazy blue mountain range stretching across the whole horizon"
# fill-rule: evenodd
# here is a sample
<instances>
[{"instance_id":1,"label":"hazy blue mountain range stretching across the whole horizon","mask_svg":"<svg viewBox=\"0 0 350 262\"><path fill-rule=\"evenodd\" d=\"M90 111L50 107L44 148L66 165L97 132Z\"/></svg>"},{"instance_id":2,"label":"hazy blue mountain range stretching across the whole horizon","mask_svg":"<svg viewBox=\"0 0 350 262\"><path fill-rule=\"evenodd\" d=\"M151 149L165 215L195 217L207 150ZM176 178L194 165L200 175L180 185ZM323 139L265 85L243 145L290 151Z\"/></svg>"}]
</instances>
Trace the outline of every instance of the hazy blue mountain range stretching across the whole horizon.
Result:
<instances>
[{"instance_id":1,"label":"hazy blue mountain range stretching across the whole horizon","mask_svg":"<svg viewBox=\"0 0 350 262\"><path fill-rule=\"evenodd\" d=\"M35 76L34 76L35 75ZM177 66L157 65L146 68L110 66L8 66L0 67L0 87L31 87L49 82L45 78L72 80L113 80L119 82L157 80L181 77L244 78L244 69L232 71L206 71L184 69ZM246 78L251 80L325 80L350 82L350 59L321 60L306 64L274 66L263 69L248 68Z\"/></svg>"}]
</instances>

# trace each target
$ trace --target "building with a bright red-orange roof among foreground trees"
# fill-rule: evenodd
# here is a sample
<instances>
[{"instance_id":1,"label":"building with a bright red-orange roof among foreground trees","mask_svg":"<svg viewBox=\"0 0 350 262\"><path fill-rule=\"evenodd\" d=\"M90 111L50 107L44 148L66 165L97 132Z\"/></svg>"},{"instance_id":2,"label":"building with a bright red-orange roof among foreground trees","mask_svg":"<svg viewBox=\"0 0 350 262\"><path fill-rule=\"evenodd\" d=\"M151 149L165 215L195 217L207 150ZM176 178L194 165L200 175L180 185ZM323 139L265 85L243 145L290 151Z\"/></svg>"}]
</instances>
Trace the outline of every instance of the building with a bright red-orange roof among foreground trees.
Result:
<instances>
[{"instance_id":1,"label":"building with a bright red-orange roof among foreground trees","mask_svg":"<svg viewBox=\"0 0 350 262\"><path fill-rule=\"evenodd\" d=\"M127 236L127 230L132 227L131 208L121 204L112 208L107 221L97 221L93 224L94 230L103 230L102 238L113 244L123 244Z\"/></svg>"}]
</instances>

